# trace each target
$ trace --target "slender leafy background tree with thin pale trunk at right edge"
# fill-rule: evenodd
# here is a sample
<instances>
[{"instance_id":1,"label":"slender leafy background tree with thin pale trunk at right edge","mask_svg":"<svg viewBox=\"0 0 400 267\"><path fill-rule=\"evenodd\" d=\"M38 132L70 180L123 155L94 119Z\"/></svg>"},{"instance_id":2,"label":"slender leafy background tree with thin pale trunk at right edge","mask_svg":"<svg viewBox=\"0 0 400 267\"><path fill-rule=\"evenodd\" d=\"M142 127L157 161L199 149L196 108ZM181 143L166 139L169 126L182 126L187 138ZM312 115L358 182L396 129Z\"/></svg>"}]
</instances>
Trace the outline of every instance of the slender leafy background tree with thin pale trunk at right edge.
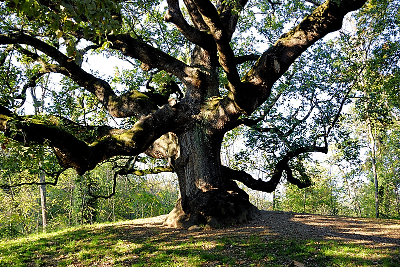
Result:
<instances>
[{"instance_id":1,"label":"slender leafy background tree with thin pale trunk at right edge","mask_svg":"<svg viewBox=\"0 0 400 267\"><path fill-rule=\"evenodd\" d=\"M367 5L357 14L352 31L343 34L345 42L351 44L347 47L343 45L347 53L352 55L353 61L363 62L361 64L364 65L359 83L354 86L352 116L353 123L358 123L359 144L369 150L370 160L367 164L374 184L376 218L379 217L379 203L383 195L387 196L379 193L387 184L383 179L385 171L379 162L383 155L379 154L385 153L383 142L390 142L388 136L396 129L395 114L398 112L399 65L395 52L398 21L394 19L398 7L397 1L379 1L375 5Z\"/></svg>"}]
</instances>

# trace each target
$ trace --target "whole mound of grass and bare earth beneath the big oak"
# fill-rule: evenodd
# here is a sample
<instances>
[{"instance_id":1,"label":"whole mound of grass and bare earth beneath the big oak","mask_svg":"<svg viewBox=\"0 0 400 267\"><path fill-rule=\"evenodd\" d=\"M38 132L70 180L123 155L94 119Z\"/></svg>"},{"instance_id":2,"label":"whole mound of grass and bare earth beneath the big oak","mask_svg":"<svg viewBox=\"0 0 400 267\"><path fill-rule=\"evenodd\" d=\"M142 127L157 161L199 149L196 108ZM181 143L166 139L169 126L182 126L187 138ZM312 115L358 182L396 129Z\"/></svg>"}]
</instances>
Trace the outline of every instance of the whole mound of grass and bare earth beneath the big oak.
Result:
<instances>
[{"instance_id":1,"label":"whole mound of grass and bare earth beneath the big oak","mask_svg":"<svg viewBox=\"0 0 400 267\"><path fill-rule=\"evenodd\" d=\"M10 242L0 246L0 266L395 267L400 260L395 221L262 212L245 224L187 231L162 227L162 218Z\"/></svg>"}]
</instances>

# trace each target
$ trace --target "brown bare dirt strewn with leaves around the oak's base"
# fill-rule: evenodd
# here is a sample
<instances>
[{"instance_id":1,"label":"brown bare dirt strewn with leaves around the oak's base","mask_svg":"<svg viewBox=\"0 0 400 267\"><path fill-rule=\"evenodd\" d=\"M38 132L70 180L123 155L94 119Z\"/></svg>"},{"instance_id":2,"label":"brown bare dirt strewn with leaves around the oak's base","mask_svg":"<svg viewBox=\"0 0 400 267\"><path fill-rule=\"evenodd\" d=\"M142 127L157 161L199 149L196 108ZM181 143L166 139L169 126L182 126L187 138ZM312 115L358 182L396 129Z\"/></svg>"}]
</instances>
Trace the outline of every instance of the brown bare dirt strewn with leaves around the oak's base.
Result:
<instances>
[{"instance_id":1,"label":"brown bare dirt strewn with leaves around the oak's base","mask_svg":"<svg viewBox=\"0 0 400 267\"><path fill-rule=\"evenodd\" d=\"M137 227L156 227L159 230L165 215L136 220ZM274 233L280 237L294 239L327 239L343 242L365 244L386 248L398 248L400 246L400 221L333 217L311 214L299 214L292 212L261 211L258 220L235 225L230 228L218 230L197 229L183 232L200 232L198 234L212 235L257 233Z\"/></svg>"}]
</instances>

